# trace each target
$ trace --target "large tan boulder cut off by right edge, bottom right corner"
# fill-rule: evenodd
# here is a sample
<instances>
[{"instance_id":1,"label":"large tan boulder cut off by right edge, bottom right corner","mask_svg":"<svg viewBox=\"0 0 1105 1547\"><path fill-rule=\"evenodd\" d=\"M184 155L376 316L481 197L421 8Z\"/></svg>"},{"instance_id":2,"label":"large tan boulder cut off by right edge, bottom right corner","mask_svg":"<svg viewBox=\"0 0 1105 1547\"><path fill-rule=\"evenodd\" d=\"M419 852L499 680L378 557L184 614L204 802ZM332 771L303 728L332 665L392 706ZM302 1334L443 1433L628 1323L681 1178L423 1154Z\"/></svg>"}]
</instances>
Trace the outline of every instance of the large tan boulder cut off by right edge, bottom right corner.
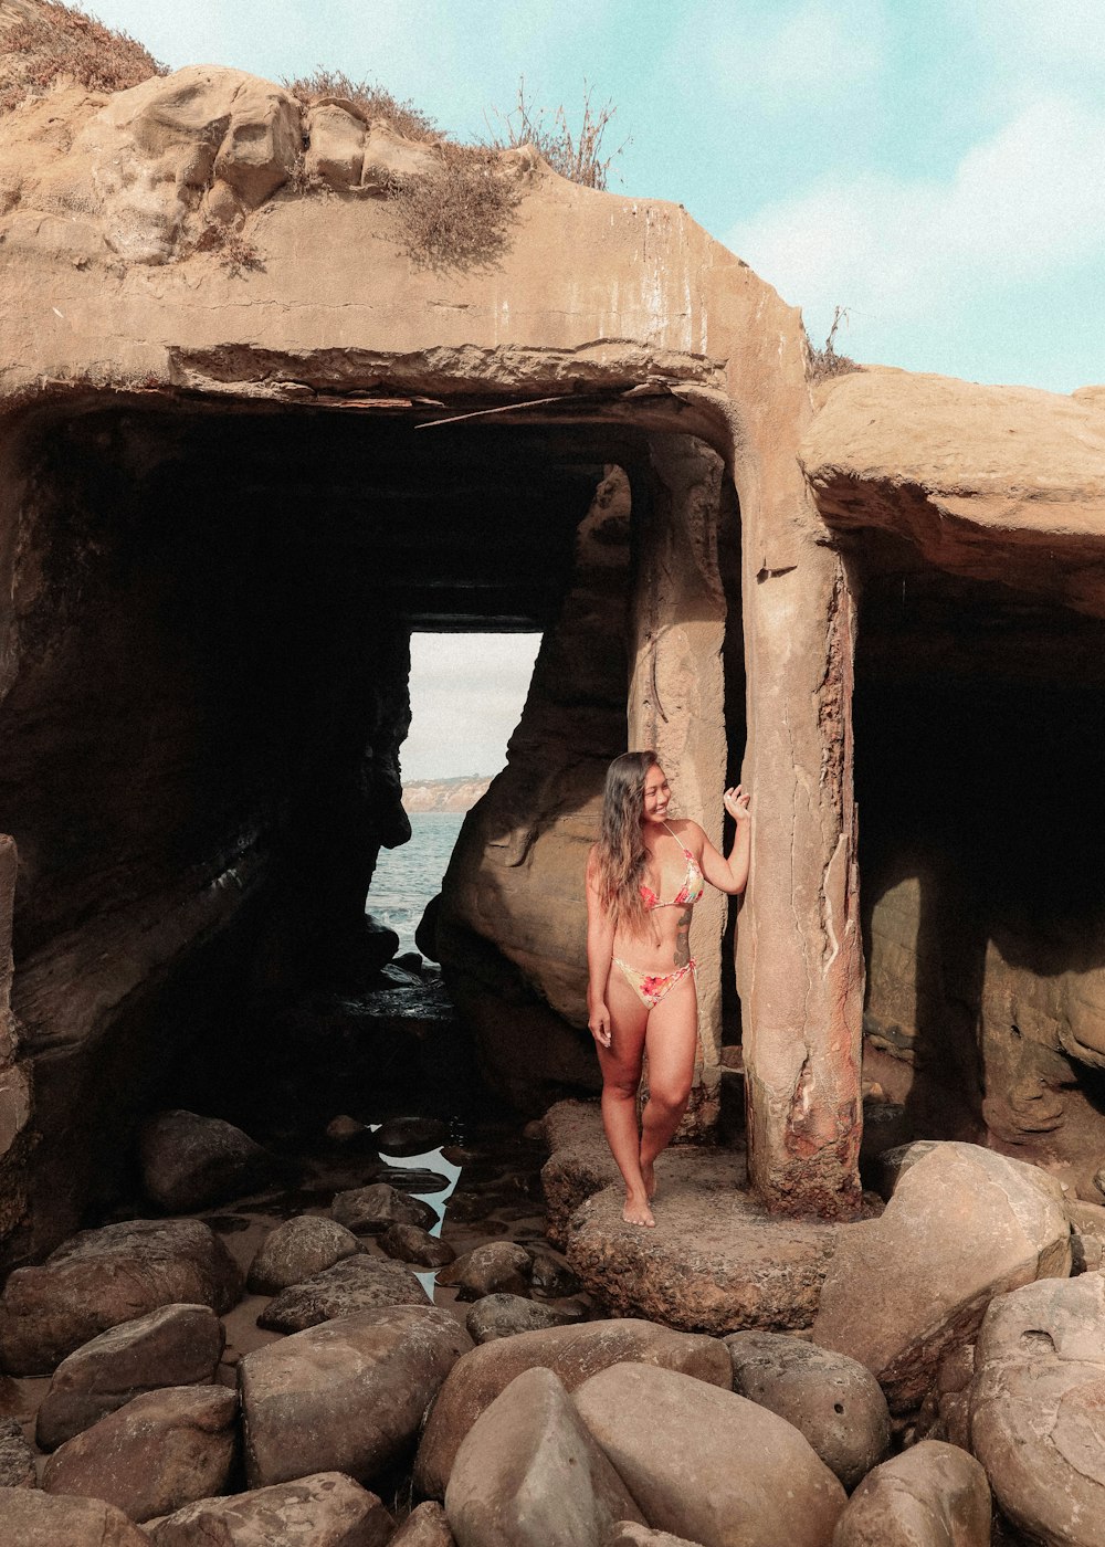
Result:
<instances>
[{"instance_id":1,"label":"large tan boulder cut off by right edge, bottom right corner","mask_svg":"<svg viewBox=\"0 0 1105 1547\"><path fill-rule=\"evenodd\" d=\"M1105 1278L1000 1295L975 1346L970 1445L1014 1525L1096 1547L1105 1519Z\"/></svg>"}]
</instances>

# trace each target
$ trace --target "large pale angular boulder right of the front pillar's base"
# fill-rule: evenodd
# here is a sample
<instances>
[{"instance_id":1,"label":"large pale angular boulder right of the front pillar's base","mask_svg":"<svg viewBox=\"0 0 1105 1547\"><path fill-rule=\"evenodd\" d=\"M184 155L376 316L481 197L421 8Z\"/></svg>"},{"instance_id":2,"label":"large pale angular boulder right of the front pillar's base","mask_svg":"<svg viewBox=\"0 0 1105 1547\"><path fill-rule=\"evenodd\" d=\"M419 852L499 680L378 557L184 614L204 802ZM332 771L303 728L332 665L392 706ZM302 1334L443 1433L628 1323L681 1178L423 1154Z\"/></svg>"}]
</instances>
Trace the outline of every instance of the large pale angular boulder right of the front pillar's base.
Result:
<instances>
[{"instance_id":1,"label":"large pale angular boulder right of the front pillar's base","mask_svg":"<svg viewBox=\"0 0 1105 1547\"><path fill-rule=\"evenodd\" d=\"M939 1143L901 1173L879 1219L840 1231L814 1341L867 1364L891 1412L907 1412L995 1295L1069 1270L1059 1182L978 1145Z\"/></svg>"}]
</instances>

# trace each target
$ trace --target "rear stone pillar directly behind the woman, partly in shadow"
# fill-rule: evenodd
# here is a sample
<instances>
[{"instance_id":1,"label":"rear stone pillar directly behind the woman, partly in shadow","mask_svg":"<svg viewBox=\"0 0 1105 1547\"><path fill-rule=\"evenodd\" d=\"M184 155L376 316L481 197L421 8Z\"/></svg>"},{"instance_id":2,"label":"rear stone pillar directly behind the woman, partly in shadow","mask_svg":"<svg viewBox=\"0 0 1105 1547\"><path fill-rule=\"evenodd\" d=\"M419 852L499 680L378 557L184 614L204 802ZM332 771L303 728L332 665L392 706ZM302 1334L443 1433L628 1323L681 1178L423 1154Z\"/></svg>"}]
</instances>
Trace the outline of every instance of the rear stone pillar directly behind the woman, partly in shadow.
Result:
<instances>
[{"instance_id":1,"label":"rear stone pillar directly behind the woman, partly in shadow","mask_svg":"<svg viewBox=\"0 0 1105 1547\"><path fill-rule=\"evenodd\" d=\"M639 520L630 647L630 749L655 747L675 811L721 845L726 777L726 596L718 569L724 463L687 435L650 439L653 500ZM698 961L695 1088L684 1125L707 1129L721 1081L721 936L726 899L706 890L690 944Z\"/></svg>"}]
</instances>

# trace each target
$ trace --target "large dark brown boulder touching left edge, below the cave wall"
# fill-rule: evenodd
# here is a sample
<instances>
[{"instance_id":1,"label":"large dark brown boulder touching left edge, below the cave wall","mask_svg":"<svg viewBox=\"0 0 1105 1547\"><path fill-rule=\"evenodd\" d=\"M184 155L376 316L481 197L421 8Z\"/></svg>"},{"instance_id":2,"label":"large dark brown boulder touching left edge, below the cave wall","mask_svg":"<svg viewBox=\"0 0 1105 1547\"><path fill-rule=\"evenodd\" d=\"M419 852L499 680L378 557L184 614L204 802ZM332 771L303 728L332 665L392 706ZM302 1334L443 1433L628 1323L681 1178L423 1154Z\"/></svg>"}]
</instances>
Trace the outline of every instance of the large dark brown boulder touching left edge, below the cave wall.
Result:
<instances>
[{"instance_id":1,"label":"large dark brown boulder touching left edge, below the cave wall","mask_svg":"<svg viewBox=\"0 0 1105 1547\"><path fill-rule=\"evenodd\" d=\"M48 1375L90 1338L159 1306L241 1298L241 1275L198 1219L130 1219L82 1230L40 1267L17 1269L0 1296L0 1363L14 1375Z\"/></svg>"}]
</instances>

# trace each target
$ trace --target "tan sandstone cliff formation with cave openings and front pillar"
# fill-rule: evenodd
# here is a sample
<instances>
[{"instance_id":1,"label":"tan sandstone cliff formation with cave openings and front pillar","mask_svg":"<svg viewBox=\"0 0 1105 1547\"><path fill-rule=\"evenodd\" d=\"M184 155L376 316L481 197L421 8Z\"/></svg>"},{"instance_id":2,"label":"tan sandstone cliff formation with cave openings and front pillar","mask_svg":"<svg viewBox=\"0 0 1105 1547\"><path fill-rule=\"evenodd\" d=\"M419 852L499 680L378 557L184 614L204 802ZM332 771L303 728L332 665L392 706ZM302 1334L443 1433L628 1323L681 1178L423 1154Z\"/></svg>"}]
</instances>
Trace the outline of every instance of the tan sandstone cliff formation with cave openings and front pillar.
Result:
<instances>
[{"instance_id":1,"label":"tan sandstone cliff formation with cave openings and front pillar","mask_svg":"<svg viewBox=\"0 0 1105 1547\"><path fill-rule=\"evenodd\" d=\"M715 842L754 791L761 1199L859 1199L865 951L915 1132L1100 1199L1100 391L812 387L797 311L682 209L528 152L486 162L500 251L438 261L385 195L450 166L214 67L0 118L3 1259L113 1196L183 1069L364 976L416 627L545 631L438 924L498 1089L594 1083L582 862L652 743Z\"/></svg>"}]
</instances>

